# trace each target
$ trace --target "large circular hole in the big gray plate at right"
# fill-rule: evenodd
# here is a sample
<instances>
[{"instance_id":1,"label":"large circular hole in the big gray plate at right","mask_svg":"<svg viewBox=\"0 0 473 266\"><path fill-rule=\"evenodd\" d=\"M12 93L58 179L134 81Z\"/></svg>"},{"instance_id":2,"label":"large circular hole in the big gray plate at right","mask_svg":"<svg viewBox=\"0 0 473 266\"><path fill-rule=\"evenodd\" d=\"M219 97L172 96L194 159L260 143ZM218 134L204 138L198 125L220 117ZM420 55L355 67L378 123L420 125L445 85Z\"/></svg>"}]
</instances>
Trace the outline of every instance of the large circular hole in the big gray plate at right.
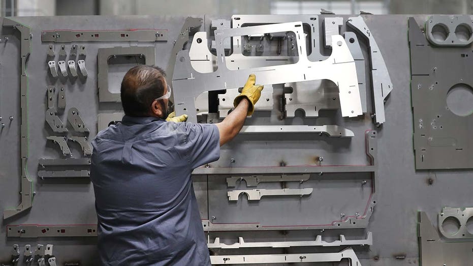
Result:
<instances>
[{"instance_id":1,"label":"large circular hole in the big gray plate at right","mask_svg":"<svg viewBox=\"0 0 473 266\"><path fill-rule=\"evenodd\" d=\"M447 108L458 116L473 113L473 88L464 83L453 85L447 93Z\"/></svg>"}]
</instances>

